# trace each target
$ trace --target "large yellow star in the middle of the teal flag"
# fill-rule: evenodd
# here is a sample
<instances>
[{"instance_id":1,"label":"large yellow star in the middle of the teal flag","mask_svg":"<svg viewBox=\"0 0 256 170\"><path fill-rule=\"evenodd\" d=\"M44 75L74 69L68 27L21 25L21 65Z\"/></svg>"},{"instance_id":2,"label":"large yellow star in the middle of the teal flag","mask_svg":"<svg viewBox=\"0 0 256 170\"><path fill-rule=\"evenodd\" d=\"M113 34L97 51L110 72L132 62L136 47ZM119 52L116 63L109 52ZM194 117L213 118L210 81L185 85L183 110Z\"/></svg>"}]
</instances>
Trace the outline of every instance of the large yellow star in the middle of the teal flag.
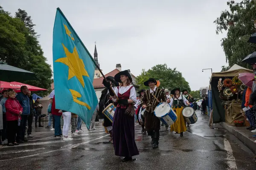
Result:
<instances>
[{"instance_id":1,"label":"large yellow star in the middle of the teal flag","mask_svg":"<svg viewBox=\"0 0 256 170\"><path fill-rule=\"evenodd\" d=\"M79 80L79 82L84 88L83 76L89 77L89 74L84 68L83 60L79 58L76 46L73 49L73 53L70 53L70 51L68 51L64 44L62 44L62 46L67 57L56 59L55 62L62 62L63 64L67 65L69 68L68 80L76 76L76 78Z\"/></svg>"}]
</instances>

